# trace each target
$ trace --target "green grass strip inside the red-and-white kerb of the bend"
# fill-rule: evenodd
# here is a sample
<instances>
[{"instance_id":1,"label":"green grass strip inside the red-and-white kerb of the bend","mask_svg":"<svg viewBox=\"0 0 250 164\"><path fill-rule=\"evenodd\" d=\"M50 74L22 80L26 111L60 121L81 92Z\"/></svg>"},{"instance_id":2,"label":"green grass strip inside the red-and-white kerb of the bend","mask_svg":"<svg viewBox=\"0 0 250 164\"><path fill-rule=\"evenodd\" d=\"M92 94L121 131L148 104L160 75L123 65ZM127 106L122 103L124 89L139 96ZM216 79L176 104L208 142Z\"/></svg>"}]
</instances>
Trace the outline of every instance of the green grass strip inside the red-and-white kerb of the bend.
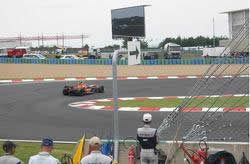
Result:
<instances>
[{"instance_id":1,"label":"green grass strip inside the red-and-white kerb of the bend","mask_svg":"<svg viewBox=\"0 0 250 164\"><path fill-rule=\"evenodd\" d=\"M193 102L187 107L249 107L249 97L212 97L212 98L194 98ZM204 102L202 102L204 100ZM119 101L120 107L176 107L182 103L183 99L168 98L158 100L126 100ZM225 103L226 102L226 103ZM100 106L113 106L113 102L98 102Z\"/></svg>"}]
</instances>

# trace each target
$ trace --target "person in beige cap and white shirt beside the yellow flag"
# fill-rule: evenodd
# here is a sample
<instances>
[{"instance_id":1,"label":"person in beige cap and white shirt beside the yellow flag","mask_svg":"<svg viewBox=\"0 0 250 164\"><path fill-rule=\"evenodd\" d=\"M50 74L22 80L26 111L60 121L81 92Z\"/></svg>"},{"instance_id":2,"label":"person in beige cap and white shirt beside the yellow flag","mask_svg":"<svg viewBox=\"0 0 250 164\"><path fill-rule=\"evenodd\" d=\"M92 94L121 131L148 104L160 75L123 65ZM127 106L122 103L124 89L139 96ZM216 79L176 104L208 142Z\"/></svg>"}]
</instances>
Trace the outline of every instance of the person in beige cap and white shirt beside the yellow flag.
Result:
<instances>
[{"instance_id":1,"label":"person in beige cap and white shirt beside the yellow flag","mask_svg":"<svg viewBox=\"0 0 250 164\"><path fill-rule=\"evenodd\" d=\"M110 164L112 159L106 155L103 155L100 151L101 140L98 137L92 137L89 141L89 149L91 153L81 160L81 164Z\"/></svg>"}]
</instances>

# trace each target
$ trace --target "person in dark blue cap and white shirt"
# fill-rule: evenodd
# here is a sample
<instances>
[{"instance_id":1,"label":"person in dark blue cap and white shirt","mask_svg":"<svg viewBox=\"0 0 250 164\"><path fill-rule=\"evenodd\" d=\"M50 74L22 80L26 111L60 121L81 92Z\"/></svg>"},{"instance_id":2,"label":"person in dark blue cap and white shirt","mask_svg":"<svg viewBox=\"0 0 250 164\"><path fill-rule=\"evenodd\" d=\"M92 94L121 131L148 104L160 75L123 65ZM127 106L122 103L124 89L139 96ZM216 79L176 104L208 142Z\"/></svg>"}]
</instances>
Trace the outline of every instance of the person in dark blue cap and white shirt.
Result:
<instances>
[{"instance_id":1,"label":"person in dark blue cap and white shirt","mask_svg":"<svg viewBox=\"0 0 250 164\"><path fill-rule=\"evenodd\" d=\"M41 144L41 152L30 157L29 164L60 164L58 159L50 155L53 146L54 143L51 138L44 138Z\"/></svg>"}]
</instances>

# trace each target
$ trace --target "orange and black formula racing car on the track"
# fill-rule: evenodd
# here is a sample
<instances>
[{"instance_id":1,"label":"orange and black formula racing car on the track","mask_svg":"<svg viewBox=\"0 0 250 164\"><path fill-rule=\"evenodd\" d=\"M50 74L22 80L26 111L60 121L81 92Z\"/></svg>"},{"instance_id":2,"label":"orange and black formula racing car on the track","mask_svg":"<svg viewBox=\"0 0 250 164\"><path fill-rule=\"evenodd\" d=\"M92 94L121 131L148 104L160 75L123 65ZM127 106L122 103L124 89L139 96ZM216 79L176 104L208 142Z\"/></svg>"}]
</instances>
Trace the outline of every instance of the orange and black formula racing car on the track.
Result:
<instances>
[{"instance_id":1,"label":"orange and black formula racing car on the track","mask_svg":"<svg viewBox=\"0 0 250 164\"><path fill-rule=\"evenodd\" d=\"M74 86L64 86L63 95L68 96L84 96L94 93L104 93L104 86L87 85L84 82L79 82Z\"/></svg>"}]
</instances>

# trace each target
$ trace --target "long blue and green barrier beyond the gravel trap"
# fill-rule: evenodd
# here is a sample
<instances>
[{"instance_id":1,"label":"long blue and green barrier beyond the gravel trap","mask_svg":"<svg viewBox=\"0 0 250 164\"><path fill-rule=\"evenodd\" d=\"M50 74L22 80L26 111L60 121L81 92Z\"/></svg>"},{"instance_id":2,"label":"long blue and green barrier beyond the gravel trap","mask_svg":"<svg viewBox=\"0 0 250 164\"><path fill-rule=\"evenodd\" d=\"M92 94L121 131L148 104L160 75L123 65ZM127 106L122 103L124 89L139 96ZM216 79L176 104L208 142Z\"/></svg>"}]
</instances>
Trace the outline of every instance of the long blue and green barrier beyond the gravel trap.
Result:
<instances>
[{"instance_id":1,"label":"long blue and green barrier beyond the gravel trap","mask_svg":"<svg viewBox=\"0 0 250 164\"><path fill-rule=\"evenodd\" d=\"M111 59L24 59L0 58L0 63L13 64L94 64L111 65ZM127 65L128 60L119 60L118 65ZM199 64L249 64L248 57L242 58L192 58L143 60L142 65L199 65Z\"/></svg>"}]
</instances>

